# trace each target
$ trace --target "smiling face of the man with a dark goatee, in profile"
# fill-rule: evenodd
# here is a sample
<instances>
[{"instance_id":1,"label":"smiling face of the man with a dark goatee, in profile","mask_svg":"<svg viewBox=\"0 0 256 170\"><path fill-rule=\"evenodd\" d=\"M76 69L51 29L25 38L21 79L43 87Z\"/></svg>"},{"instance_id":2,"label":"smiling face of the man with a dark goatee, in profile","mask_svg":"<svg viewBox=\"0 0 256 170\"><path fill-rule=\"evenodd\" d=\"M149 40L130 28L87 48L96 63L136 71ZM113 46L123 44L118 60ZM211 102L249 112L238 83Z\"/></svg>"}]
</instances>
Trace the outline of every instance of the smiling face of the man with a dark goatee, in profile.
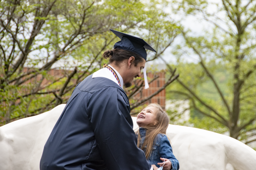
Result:
<instances>
[{"instance_id":1,"label":"smiling face of the man with a dark goatee, in profile","mask_svg":"<svg viewBox=\"0 0 256 170\"><path fill-rule=\"evenodd\" d=\"M137 66L132 64L127 70L126 78L124 79L124 87L130 87L132 85L133 78L140 77L141 69L145 67L146 61L138 63Z\"/></svg>"}]
</instances>

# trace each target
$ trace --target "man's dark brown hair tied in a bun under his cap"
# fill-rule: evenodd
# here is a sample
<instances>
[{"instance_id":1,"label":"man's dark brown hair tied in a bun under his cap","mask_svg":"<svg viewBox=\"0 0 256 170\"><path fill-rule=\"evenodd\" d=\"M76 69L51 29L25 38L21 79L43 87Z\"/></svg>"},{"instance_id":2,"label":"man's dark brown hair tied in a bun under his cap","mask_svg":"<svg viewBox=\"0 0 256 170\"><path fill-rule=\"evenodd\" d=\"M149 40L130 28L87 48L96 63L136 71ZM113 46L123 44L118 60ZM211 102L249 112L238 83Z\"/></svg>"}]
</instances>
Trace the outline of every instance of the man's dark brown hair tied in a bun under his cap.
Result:
<instances>
[{"instance_id":1,"label":"man's dark brown hair tied in a bun under his cap","mask_svg":"<svg viewBox=\"0 0 256 170\"><path fill-rule=\"evenodd\" d=\"M107 59L109 58L109 63L115 62L117 66L119 66L120 63L122 63L124 60L128 60L131 56L134 56L134 65L137 66L138 63L142 62L144 59L131 51L127 51L124 49L113 49L113 50L107 50L103 53L103 58Z\"/></svg>"}]
</instances>

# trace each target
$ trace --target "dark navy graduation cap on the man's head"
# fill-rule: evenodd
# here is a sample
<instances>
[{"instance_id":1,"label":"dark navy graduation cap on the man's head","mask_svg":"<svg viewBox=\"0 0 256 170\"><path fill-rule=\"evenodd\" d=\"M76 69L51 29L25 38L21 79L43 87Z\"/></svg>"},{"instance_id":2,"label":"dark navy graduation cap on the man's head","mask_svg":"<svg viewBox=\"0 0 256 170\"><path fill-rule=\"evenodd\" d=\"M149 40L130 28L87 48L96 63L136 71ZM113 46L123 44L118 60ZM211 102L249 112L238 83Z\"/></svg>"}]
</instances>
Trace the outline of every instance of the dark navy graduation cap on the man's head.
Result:
<instances>
[{"instance_id":1,"label":"dark navy graduation cap on the man's head","mask_svg":"<svg viewBox=\"0 0 256 170\"><path fill-rule=\"evenodd\" d=\"M119 31L111 30L117 37L121 39L121 41L116 42L114 48L124 49L131 51L135 54L140 55L147 61L147 52L145 49L156 52L146 41L141 38L134 37L132 35L121 33Z\"/></svg>"}]
</instances>

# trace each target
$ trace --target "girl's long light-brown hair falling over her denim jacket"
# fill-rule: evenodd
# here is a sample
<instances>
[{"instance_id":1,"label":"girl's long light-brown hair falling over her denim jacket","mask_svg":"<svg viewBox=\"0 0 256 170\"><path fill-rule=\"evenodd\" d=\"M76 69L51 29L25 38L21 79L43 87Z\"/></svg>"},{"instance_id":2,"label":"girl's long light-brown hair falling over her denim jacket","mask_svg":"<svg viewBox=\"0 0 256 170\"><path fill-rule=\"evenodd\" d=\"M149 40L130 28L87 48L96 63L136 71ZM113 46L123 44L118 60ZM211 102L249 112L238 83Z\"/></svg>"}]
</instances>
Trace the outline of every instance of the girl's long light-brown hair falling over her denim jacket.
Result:
<instances>
[{"instance_id":1,"label":"girl's long light-brown hair falling over her denim jacket","mask_svg":"<svg viewBox=\"0 0 256 170\"><path fill-rule=\"evenodd\" d=\"M139 131L140 129L138 129L135 132L138 135L138 142L137 142L138 148L141 147L140 149L143 150L145 148L145 146L147 146L146 151L145 151L146 159L148 159L149 155L152 152L155 137L159 133L163 133L163 134L166 133L166 129L168 128L168 124L170 121L168 115L166 114L166 112L164 112L164 110L162 109L162 107L159 104L152 103L152 104L149 104L147 107L150 107L150 106L156 108L155 114L156 114L157 123L155 125L149 124L149 125L143 127L147 130L147 132L146 132L146 137L145 137L145 140L144 140L144 143L142 146L140 146L140 140L141 140L140 131Z\"/></svg>"}]
</instances>

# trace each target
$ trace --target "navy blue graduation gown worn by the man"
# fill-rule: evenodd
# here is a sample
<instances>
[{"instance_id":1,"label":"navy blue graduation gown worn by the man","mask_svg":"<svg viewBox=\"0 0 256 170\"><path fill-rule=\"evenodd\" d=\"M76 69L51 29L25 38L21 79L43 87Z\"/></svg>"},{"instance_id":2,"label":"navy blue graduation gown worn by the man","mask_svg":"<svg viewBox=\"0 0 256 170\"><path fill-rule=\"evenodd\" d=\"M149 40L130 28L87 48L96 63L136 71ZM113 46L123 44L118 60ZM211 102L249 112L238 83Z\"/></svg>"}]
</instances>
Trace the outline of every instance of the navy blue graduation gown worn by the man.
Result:
<instances>
[{"instance_id":1,"label":"navy blue graduation gown worn by the man","mask_svg":"<svg viewBox=\"0 0 256 170\"><path fill-rule=\"evenodd\" d=\"M149 170L132 127L124 90L90 75L76 86L56 122L40 170Z\"/></svg>"}]
</instances>

